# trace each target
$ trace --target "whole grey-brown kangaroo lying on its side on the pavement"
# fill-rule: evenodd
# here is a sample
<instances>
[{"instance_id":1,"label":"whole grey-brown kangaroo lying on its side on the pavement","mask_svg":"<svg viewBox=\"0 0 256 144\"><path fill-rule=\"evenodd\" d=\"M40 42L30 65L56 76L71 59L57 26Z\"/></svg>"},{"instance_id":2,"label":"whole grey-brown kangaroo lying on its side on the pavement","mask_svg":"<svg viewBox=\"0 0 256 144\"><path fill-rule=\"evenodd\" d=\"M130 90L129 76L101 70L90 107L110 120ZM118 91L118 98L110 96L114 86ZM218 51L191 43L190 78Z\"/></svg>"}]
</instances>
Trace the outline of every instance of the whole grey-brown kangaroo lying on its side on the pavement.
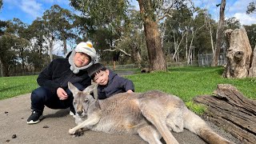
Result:
<instances>
[{"instance_id":1,"label":"whole grey-brown kangaroo lying on its side on the pavement","mask_svg":"<svg viewBox=\"0 0 256 144\"><path fill-rule=\"evenodd\" d=\"M182 132L184 128L198 134L206 142L232 143L214 133L202 118L188 110L182 100L158 90L146 93L120 93L104 100L94 99L90 92L97 86L79 91L69 82L74 95L74 107L80 109L86 120L69 130L74 134L82 128L118 134L138 134L149 143L178 143L170 130Z\"/></svg>"}]
</instances>

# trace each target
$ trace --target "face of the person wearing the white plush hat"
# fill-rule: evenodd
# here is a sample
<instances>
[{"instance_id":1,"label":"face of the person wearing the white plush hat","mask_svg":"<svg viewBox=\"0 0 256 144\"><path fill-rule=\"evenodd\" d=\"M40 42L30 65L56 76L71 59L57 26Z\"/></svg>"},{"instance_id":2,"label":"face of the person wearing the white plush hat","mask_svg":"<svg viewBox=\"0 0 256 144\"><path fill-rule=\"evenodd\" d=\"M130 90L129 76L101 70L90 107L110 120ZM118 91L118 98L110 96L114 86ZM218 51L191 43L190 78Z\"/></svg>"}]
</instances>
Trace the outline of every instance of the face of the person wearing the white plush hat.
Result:
<instances>
[{"instance_id":1,"label":"face of the person wearing the white plush hat","mask_svg":"<svg viewBox=\"0 0 256 144\"><path fill-rule=\"evenodd\" d=\"M90 62L90 57L84 53L75 53L74 54L74 65L77 67L82 67L88 65Z\"/></svg>"}]
</instances>

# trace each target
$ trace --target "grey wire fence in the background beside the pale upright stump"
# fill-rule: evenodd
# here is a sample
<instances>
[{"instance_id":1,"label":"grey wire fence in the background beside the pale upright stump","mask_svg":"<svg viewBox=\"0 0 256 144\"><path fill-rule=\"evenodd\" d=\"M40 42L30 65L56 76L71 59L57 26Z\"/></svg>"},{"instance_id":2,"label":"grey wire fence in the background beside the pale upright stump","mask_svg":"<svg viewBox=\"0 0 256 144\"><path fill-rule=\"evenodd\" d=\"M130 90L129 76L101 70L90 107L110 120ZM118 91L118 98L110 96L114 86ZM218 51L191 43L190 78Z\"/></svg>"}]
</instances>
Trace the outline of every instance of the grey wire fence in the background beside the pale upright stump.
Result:
<instances>
[{"instance_id":1,"label":"grey wire fence in the background beside the pale upright stump","mask_svg":"<svg viewBox=\"0 0 256 144\"><path fill-rule=\"evenodd\" d=\"M210 66L213 61L213 54L198 54L198 65L199 66ZM226 54L219 54L218 66L226 64Z\"/></svg>"}]
</instances>

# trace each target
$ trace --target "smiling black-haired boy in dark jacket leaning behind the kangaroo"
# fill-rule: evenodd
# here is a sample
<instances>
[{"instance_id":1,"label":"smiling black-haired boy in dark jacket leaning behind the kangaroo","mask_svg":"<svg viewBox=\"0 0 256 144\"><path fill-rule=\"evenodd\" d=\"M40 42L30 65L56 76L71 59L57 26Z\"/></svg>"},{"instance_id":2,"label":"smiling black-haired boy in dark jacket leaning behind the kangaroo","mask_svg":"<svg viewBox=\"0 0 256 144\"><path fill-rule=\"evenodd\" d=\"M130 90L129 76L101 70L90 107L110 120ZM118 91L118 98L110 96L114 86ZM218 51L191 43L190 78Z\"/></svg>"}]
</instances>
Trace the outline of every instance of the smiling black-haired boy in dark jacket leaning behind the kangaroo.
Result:
<instances>
[{"instance_id":1,"label":"smiling black-haired boy in dark jacket leaning behind the kangaroo","mask_svg":"<svg viewBox=\"0 0 256 144\"><path fill-rule=\"evenodd\" d=\"M98 99L109 98L118 93L133 93L134 83L126 78L119 77L113 71L106 69L100 63L95 63L88 69L90 78L98 83Z\"/></svg>"}]
</instances>

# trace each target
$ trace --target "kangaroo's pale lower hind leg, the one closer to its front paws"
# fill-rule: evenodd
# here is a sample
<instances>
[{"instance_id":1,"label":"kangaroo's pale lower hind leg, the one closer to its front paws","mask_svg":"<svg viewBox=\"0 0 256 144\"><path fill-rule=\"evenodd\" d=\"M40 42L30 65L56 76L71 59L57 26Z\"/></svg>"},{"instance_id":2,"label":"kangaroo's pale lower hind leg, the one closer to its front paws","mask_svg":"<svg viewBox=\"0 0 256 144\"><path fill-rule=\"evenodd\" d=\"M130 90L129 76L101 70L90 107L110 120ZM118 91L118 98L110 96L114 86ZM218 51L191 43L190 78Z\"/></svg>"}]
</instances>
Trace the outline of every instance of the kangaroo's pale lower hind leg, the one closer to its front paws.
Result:
<instances>
[{"instance_id":1,"label":"kangaroo's pale lower hind leg, the one closer to its front paws","mask_svg":"<svg viewBox=\"0 0 256 144\"><path fill-rule=\"evenodd\" d=\"M162 138L161 134L158 133L153 126L143 126L138 129L138 135L146 142L150 144L162 144L160 139Z\"/></svg>"}]
</instances>

